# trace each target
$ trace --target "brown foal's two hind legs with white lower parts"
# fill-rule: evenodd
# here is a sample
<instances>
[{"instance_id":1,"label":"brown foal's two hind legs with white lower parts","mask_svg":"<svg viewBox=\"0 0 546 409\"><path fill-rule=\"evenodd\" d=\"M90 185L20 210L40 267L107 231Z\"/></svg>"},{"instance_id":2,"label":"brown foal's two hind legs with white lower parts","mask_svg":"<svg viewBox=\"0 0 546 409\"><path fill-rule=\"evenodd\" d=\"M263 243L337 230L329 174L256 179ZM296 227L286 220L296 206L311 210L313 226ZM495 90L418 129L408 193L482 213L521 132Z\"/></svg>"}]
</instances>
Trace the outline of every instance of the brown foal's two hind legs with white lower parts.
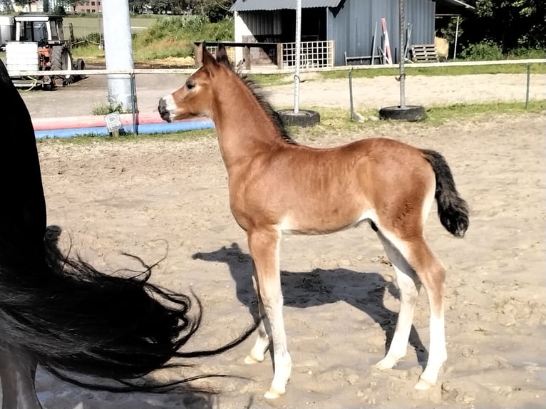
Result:
<instances>
[{"instance_id":1,"label":"brown foal's two hind legs with white lower parts","mask_svg":"<svg viewBox=\"0 0 546 409\"><path fill-rule=\"evenodd\" d=\"M397 263L398 269L401 269L406 277L403 277L404 274L398 274L397 271L398 284L401 284L401 312L398 315L398 322L396 323L396 331L391 348L389 348L387 356L378 363L378 368L391 368L394 363L396 363L396 358L399 358L398 356L400 356L402 349L405 355L409 331L413 320L413 310L415 309L417 301L416 297L419 288L417 283L418 281L421 281L426 289L428 302L431 308L431 339L428 348L428 361L425 371L423 371L421 378L416 384L416 389L425 390L436 385L438 372L448 356L447 351L445 350L443 304L445 269L433 252L431 252L431 249L428 248L423 237L413 237L412 239L403 240L392 234L387 235L384 231L383 234L380 233L379 237L383 241L383 245L387 243L387 245L385 245L386 248L388 248L389 245L391 246L389 252L394 253L398 250L398 254L405 259L406 266L404 266L400 260L396 259L396 254L393 256L393 259L391 259L391 262L393 262L393 264ZM406 273L403 269L413 272L416 276ZM411 285L410 279L413 281L413 286Z\"/></svg>"}]
</instances>

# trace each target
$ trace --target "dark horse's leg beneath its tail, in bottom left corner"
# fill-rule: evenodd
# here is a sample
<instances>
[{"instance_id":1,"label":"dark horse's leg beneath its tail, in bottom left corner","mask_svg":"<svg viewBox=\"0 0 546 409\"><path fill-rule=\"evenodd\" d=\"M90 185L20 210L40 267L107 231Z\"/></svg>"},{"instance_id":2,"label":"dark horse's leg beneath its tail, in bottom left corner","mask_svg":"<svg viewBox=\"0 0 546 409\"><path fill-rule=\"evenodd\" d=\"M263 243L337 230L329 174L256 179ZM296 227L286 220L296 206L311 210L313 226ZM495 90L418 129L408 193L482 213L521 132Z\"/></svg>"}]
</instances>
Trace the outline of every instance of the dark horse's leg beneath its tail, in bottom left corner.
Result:
<instances>
[{"instance_id":1,"label":"dark horse's leg beneath its tail, in bottom left corner","mask_svg":"<svg viewBox=\"0 0 546 409\"><path fill-rule=\"evenodd\" d=\"M41 409L34 385L36 365L24 349L0 346L3 409Z\"/></svg>"}]
</instances>

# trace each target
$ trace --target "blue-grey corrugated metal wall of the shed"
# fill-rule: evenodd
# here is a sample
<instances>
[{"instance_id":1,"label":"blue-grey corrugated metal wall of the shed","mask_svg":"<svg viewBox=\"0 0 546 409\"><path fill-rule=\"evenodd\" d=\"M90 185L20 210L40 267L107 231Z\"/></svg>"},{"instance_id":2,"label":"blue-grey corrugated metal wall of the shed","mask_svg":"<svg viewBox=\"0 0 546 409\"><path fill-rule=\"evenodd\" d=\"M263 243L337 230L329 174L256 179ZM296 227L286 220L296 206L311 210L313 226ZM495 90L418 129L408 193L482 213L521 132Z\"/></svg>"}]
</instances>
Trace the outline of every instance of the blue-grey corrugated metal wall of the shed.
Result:
<instances>
[{"instance_id":1,"label":"blue-grey corrugated metal wall of the shed","mask_svg":"<svg viewBox=\"0 0 546 409\"><path fill-rule=\"evenodd\" d=\"M410 43L434 43L435 4L431 0L406 0L406 28L409 23L412 24ZM377 47L383 48L381 30L383 17L386 19L391 56L393 61L398 61L400 43L398 0L346 0L341 9L329 10L326 18L326 36L335 42L334 64L344 65L345 52L347 56L371 56L376 24L377 54Z\"/></svg>"}]
</instances>

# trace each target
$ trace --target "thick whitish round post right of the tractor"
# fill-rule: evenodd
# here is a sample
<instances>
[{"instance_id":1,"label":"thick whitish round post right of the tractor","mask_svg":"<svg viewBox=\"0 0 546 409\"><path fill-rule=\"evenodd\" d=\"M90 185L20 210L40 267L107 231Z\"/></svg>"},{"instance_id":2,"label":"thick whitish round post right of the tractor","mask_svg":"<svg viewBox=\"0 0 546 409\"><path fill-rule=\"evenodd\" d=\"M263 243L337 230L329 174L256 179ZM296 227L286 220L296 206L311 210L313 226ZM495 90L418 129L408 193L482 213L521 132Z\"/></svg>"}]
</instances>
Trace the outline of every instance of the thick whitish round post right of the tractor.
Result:
<instances>
[{"instance_id":1,"label":"thick whitish round post right of the tractor","mask_svg":"<svg viewBox=\"0 0 546 409\"><path fill-rule=\"evenodd\" d=\"M102 7L106 69L132 70L133 43L128 0L103 0ZM108 102L121 103L124 110L131 108L130 76L108 75Z\"/></svg>"}]
</instances>

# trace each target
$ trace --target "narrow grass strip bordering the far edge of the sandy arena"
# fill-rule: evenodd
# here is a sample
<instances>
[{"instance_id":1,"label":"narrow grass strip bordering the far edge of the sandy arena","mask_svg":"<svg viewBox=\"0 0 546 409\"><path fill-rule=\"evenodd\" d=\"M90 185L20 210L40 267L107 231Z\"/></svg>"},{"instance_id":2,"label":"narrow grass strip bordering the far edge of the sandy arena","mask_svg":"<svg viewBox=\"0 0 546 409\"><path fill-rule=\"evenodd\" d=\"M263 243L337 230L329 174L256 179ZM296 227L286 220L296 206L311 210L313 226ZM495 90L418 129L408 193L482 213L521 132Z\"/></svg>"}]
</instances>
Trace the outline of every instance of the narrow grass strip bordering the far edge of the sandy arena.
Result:
<instances>
[{"instance_id":1,"label":"narrow grass strip bordering the far edge of the sandy arena","mask_svg":"<svg viewBox=\"0 0 546 409\"><path fill-rule=\"evenodd\" d=\"M356 133L366 128L377 128L390 126L391 121L378 120L377 110L359 111L366 118L364 122L356 122L350 119L349 110L339 108L310 107L321 115L321 122L313 128L291 127L289 130L298 138L299 135L306 135L306 138L325 138L332 133ZM525 110L525 103L485 103L485 104L455 104L455 105L432 105L427 107L427 119L417 123L418 126L439 126L451 120L469 120L473 118L490 118L495 115L525 115L527 113L545 113L546 100L532 100ZM412 123L411 126L416 125ZM408 124L410 126L410 124ZM53 143L112 143L131 142L138 140L168 140L180 141L195 138L215 138L214 129L192 130L179 133L164 134L142 134L142 135L120 135L119 137L104 137L93 135L80 135L76 138L54 138L38 140L38 143L53 141Z\"/></svg>"}]
</instances>

